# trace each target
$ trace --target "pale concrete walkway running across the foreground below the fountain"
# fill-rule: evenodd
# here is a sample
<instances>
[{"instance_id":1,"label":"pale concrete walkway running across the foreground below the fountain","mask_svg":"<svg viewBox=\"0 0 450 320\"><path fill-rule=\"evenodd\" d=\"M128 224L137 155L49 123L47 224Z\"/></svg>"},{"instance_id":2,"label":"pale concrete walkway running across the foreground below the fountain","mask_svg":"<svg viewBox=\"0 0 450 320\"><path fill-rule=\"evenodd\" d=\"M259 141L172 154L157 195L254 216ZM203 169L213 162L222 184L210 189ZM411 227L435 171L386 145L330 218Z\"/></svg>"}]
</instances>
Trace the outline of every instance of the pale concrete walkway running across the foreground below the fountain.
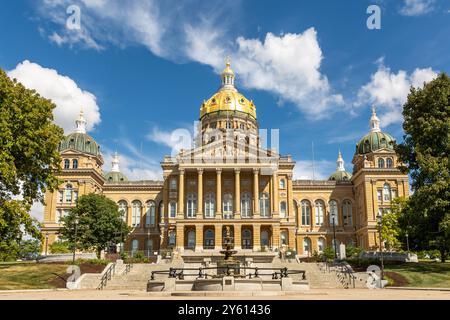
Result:
<instances>
[{"instance_id":1,"label":"pale concrete walkway running across the foreground below the fountain","mask_svg":"<svg viewBox=\"0 0 450 320\"><path fill-rule=\"evenodd\" d=\"M175 294L175 295L173 295ZM0 300L450 300L450 292L409 289L311 289L305 292L187 292L147 293L139 290L28 290L0 291ZM189 293L191 294L191 293Z\"/></svg>"}]
</instances>

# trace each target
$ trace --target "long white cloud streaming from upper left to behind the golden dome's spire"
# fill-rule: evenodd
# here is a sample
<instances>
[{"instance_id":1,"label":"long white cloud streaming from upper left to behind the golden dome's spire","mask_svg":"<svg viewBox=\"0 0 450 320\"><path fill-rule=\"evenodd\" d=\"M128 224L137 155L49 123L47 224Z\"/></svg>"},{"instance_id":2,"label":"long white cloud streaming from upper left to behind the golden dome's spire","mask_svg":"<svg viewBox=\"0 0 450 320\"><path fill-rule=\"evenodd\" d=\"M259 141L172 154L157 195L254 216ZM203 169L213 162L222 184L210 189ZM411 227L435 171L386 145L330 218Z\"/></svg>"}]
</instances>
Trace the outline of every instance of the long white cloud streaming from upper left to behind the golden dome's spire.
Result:
<instances>
[{"instance_id":1,"label":"long white cloud streaming from upper left to behind the golden dome's spire","mask_svg":"<svg viewBox=\"0 0 450 320\"><path fill-rule=\"evenodd\" d=\"M41 14L62 28L49 38L59 44L81 43L99 49L107 44L140 44L153 54L174 61L196 61L216 72L232 54L239 84L291 102L311 119L330 115L343 97L333 93L321 73L322 50L314 28L281 36L267 33L263 40L231 36L230 12L236 4L136 0L41 0ZM81 8L81 30L67 30L65 9ZM189 13L189 14L188 14ZM218 22L220 21L220 27ZM326 112L325 112L326 111Z\"/></svg>"}]
</instances>

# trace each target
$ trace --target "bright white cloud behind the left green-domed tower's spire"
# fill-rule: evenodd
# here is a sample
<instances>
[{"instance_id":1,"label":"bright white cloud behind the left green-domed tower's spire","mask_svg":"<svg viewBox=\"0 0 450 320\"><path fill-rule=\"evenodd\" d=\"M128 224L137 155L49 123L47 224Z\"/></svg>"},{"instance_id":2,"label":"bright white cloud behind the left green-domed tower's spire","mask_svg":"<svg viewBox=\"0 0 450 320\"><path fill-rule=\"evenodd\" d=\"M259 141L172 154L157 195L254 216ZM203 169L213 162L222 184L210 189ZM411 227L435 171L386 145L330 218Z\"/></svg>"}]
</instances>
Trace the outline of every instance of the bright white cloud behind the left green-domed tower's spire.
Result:
<instances>
[{"instance_id":1,"label":"bright white cloud behind the left green-domed tower's spire","mask_svg":"<svg viewBox=\"0 0 450 320\"><path fill-rule=\"evenodd\" d=\"M79 88L68 76L28 60L19 63L14 70L9 71L8 76L17 79L25 87L36 90L41 96L51 99L56 104L53 110L54 121L64 129L66 134L74 130L75 120L81 108L88 122L88 130L92 130L100 123L96 97Z\"/></svg>"}]
</instances>

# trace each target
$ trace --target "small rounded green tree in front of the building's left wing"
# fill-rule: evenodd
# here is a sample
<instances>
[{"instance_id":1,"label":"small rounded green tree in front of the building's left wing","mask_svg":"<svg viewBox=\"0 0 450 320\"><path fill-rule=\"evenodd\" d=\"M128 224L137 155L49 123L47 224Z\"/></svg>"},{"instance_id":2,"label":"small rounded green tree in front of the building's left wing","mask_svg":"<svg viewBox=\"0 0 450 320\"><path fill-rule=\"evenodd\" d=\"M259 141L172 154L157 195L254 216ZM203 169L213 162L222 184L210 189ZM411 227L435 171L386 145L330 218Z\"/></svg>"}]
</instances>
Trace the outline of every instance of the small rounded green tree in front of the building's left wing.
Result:
<instances>
[{"instance_id":1,"label":"small rounded green tree in front of the building's left wing","mask_svg":"<svg viewBox=\"0 0 450 320\"><path fill-rule=\"evenodd\" d=\"M77 249L94 249L99 258L103 249L111 243L123 242L131 231L123 221L118 205L94 193L79 197L76 207L62 223L62 240L69 241L72 248L76 245Z\"/></svg>"}]
</instances>

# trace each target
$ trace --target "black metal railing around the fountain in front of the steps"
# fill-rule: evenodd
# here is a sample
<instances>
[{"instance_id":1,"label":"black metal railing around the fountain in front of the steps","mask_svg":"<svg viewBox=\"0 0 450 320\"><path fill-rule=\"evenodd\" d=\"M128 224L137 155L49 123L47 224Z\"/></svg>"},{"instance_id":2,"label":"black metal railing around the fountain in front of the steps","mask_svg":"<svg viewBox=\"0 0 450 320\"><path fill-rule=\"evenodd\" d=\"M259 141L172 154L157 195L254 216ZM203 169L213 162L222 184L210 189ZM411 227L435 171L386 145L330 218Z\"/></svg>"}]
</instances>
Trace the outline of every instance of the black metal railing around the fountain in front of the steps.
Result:
<instances>
[{"instance_id":1,"label":"black metal railing around the fountain in front of the steps","mask_svg":"<svg viewBox=\"0 0 450 320\"><path fill-rule=\"evenodd\" d=\"M225 270L224 270L225 269ZM208 270L216 270L216 274L208 274L206 271ZM225 271L219 273L217 271ZM247 270L253 272L247 272ZM189 272L195 271L195 272ZM243 273L241 273L243 271ZM267 272L272 271L272 272ZM304 270L289 270L287 268L258 268L258 267L200 267L200 268L169 268L168 270L157 270L152 271L150 280L155 280L155 275L167 275L169 278L176 278L179 280L183 280L186 276L196 276L196 279L210 279L218 278L222 275L234 275L240 278L259 278L260 276L271 276L272 279L282 279L287 278L289 275L300 274L302 280L306 279L306 271Z\"/></svg>"}]
</instances>

